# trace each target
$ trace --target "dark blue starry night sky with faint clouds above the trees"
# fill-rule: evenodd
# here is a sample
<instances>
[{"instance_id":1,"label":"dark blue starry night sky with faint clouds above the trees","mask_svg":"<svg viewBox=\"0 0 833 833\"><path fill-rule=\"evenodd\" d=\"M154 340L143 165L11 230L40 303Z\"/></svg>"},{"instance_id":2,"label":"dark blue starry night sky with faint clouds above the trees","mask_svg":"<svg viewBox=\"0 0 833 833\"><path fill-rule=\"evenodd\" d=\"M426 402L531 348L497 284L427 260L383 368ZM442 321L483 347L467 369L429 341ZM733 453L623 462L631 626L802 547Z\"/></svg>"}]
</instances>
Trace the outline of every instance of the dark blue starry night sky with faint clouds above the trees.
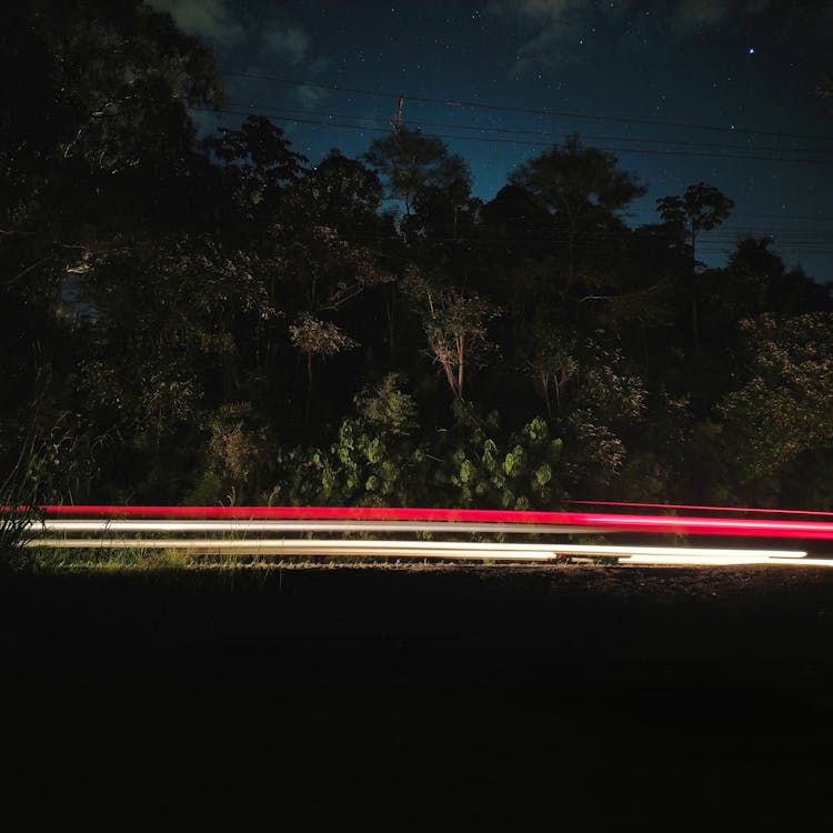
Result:
<instances>
[{"instance_id":1,"label":"dark blue starry night sky with faint clouds above the trees","mask_svg":"<svg viewBox=\"0 0 833 833\"><path fill-rule=\"evenodd\" d=\"M403 123L446 138L489 200L521 162L579 133L655 200L705 181L735 201L697 255L771 234L833 279L833 2L817 0L152 0L207 40L230 97L202 130L270 117L315 163ZM307 84L300 82L308 82ZM314 122L314 123L310 123ZM454 137L454 138L451 138Z\"/></svg>"}]
</instances>

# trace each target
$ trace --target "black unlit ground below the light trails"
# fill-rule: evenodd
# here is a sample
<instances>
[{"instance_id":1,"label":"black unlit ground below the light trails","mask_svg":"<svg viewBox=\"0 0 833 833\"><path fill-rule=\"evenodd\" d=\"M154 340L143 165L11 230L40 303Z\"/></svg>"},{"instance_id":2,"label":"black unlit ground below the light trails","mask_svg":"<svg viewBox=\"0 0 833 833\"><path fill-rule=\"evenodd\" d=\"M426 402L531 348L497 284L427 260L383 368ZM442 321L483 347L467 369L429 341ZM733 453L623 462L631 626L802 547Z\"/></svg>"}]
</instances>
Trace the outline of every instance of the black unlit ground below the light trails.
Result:
<instances>
[{"instance_id":1,"label":"black unlit ground below the light trails","mask_svg":"<svg viewBox=\"0 0 833 833\"><path fill-rule=\"evenodd\" d=\"M7 575L0 592L2 791L27 826L833 820L831 569Z\"/></svg>"}]
</instances>

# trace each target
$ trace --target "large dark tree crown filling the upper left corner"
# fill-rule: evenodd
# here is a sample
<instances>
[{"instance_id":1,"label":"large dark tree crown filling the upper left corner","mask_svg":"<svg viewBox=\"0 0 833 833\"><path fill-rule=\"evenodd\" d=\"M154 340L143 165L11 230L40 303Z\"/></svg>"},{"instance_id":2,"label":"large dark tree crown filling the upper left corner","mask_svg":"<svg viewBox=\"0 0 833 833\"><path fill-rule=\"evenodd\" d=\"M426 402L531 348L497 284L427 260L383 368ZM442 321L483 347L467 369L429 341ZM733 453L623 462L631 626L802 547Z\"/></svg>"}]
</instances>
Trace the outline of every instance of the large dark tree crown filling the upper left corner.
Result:
<instances>
[{"instance_id":1,"label":"large dark tree crown filling the upper left corner","mask_svg":"<svg viewBox=\"0 0 833 833\"><path fill-rule=\"evenodd\" d=\"M0 175L14 194L3 223L42 228L60 203L49 227L69 242L116 220L126 197L167 208L167 183L193 162L188 107L224 100L212 53L140 0L22 0L2 14L0 68L27 79L0 101Z\"/></svg>"}]
</instances>

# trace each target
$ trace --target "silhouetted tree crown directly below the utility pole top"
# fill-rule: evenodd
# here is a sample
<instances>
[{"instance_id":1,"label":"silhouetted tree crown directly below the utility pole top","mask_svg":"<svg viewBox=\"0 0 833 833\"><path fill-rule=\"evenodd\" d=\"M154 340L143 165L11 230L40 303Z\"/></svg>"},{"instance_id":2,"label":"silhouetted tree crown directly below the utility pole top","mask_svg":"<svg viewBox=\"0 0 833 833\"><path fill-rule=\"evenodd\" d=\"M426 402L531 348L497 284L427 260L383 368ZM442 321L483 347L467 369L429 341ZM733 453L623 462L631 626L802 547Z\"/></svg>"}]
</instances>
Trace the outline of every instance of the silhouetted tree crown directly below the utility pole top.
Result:
<instances>
[{"instance_id":1,"label":"silhouetted tree crown directly below the utility pole top","mask_svg":"<svg viewBox=\"0 0 833 833\"><path fill-rule=\"evenodd\" d=\"M424 188L454 188L465 194L471 190L465 161L449 153L442 139L423 136L420 130L401 128L375 139L363 159L384 177L389 197L402 201L407 217L411 214L415 194Z\"/></svg>"}]
</instances>

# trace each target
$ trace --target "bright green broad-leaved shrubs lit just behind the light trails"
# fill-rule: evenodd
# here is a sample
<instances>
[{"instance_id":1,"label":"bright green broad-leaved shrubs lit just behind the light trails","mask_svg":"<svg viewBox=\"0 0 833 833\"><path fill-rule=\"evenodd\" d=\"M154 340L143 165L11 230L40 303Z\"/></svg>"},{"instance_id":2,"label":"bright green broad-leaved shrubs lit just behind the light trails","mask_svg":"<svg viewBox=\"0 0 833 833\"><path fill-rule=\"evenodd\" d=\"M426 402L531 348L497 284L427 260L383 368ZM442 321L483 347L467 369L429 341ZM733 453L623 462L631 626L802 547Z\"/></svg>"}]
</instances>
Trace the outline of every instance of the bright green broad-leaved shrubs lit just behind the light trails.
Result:
<instances>
[{"instance_id":1,"label":"bright green broad-leaved shrubs lit just behind the light trails","mask_svg":"<svg viewBox=\"0 0 833 833\"><path fill-rule=\"evenodd\" d=\"M393 411L381 402L390 393ZM270 502L553 509L565 500L558 476L562 442L542 418L501 440L498 414L478 416L456 400L453 428L432 441L415 439L414 403L391 377L355 405L359 413L341 423L327 450L281 452L278 468L290 476Z\"/></svg>"}]
</instances>

